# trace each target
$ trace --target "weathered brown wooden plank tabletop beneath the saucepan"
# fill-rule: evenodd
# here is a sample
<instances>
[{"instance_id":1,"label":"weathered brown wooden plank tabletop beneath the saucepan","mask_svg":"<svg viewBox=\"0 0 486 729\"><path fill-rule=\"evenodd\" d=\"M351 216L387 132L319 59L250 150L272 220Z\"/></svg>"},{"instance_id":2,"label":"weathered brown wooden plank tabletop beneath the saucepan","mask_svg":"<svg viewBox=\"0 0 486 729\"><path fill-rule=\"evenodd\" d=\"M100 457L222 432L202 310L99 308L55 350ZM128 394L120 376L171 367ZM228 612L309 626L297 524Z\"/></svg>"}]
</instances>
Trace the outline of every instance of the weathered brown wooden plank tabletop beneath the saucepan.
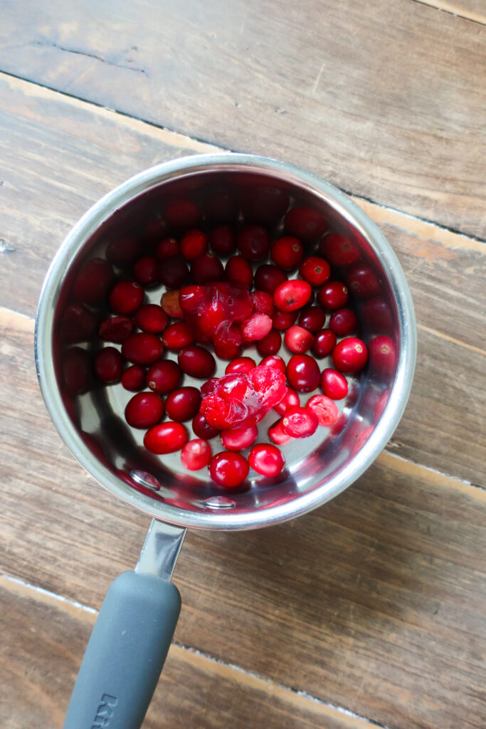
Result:
<instances>
[{"instance_id":1,"label":"weathered brown wooden plank tabletop beneath the saucepan","mask_svg":"<svg viewBox=\"0 0 486 729\"><path fill-rule=\"evenodd\" d=\"M272 529L192 531L147 728L484 728L486 7L482 0L4 0L0 9L0 724L63 724L147 520L74 462L34 369L71 225L193 152L279 157L377 222L418 366L375 464Z\"/></svg>"}]
</instances>

